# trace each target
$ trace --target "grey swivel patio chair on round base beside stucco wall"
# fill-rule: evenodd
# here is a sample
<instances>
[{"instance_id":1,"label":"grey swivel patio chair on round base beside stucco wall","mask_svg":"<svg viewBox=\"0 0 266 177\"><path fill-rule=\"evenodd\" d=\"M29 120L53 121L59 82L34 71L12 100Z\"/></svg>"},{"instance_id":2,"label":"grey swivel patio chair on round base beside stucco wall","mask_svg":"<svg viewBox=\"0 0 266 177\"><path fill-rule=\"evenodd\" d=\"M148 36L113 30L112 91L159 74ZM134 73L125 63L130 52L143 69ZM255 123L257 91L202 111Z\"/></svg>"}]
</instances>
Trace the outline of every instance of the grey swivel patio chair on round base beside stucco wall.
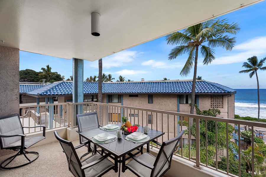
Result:
<instances>
[{"instance_id":1,"label":"grey swivel patio chair on round base beside stucco wall","mask_svg":"<svg viewBox=\"0 0 266 177\"><path fill-rule=\"evenodd\" d=\"M35 128L35 127L43 127L43 136L35 136L35 137L25 137L23 128ZM35 143L45 139L45 130L46 126L35 126L35 127L22 127L20 122L19 114L12 114L8 116L0 117L0 146L1 149L10 149L10 150L19 150L16 155L13 155L6 160L4 160L0 167L2 169L10 170L14 168L19 168L25 165L28 165L35 161L39 157L38 152L34 151L26 151L25 149L34 145ZM17 156L24 155L25 158L29 161L22 165L7 167ZM33 160L30 160L26 154L37 154L37 157ZM7 163L6 163L7 162ZM6 163L6 164L5 164Z\"/></svg>"}]
</instances>

